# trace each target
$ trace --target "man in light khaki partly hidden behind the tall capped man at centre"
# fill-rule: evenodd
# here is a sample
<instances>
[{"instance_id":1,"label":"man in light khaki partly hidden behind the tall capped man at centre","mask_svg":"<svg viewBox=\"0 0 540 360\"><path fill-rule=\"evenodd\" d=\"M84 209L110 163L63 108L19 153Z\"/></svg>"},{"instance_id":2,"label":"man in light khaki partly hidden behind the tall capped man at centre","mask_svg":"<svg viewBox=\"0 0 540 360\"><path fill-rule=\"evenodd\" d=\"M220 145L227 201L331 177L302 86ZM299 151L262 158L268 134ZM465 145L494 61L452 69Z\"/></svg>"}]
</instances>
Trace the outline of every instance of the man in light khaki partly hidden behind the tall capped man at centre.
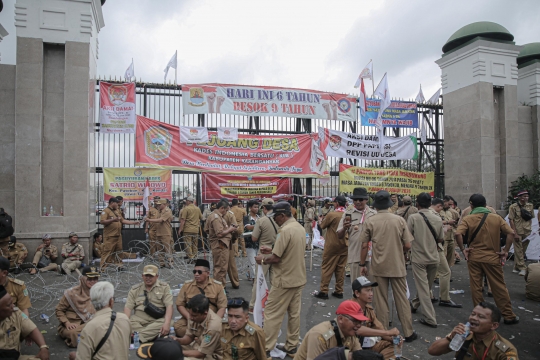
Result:
<instances>
[{"instance_id":1,"label":"man in light khaki partly hidden behind the tall capped man at centre","mask_svg":"<svg viewBox=\"0 0 540 360\"><path fill-rule=\"evenodd\" d=\"M272 218L272 207L274 205L274 200L271 198L264 198L261 202L261 207L264 216L260 217L257 222L255 223L255 228L253 228L253 233L251 234L251 240L253 242L259 243L259 250L257 251L257 255L261 254L260 247L261 246L274 246L274 243L276 242L276 236L278 234L278 228L277 224L274 222L274 219ZM292 209L292 208L291 208ZM255 279L257 278L257 273L259 267L255 267ZM270 288L272 286L272 274L270 265L262 265L264 277L266 278L266 283L268 287ZM255 305L255 298L256 298L256 292L257 287L253 286L251 290L251 301L249 302L249 308L250 311L253 311L253 306Z\"/></svg>"}]
</instances>

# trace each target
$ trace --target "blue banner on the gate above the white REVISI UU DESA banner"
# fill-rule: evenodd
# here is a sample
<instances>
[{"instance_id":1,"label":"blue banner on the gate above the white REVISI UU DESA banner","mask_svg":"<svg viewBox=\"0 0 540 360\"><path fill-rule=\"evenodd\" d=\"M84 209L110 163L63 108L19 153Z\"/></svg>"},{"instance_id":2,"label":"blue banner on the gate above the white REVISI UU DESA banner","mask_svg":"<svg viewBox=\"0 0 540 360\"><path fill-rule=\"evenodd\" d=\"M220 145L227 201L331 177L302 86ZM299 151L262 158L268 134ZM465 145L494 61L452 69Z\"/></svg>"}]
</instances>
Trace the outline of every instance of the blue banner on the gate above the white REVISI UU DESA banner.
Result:
<instances>
[{"instance_id":1,"label":"blue banner on the gate above the white REVISI UU DESA banner","mask_svg":"<svg viewBox=\"0 0 540 360\"><path fill-rule=\"evenodd\" d=\"M362 126L375 126L381 101L378 99L367 99L365 115L361 115ZM392 101L390 106L382 114L384 127L394 128L417 128L418 127L418 105L411 101Z\"/></svg>"}]
</instances>

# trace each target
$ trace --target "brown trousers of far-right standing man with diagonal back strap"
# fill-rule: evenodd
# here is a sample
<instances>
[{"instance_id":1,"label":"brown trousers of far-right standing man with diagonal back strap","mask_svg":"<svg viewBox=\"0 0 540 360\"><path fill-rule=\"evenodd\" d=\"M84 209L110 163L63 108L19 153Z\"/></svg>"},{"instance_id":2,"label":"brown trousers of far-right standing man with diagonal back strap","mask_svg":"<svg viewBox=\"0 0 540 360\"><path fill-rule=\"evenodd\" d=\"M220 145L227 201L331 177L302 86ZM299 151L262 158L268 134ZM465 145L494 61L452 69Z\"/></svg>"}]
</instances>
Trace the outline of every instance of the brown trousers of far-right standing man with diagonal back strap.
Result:
<instances>
[{"instance_id":1,"label":"brown trousers of far-right standing man with diagonal back strap","mask_svg":"<svg viewBox=\"0 0 540 360\"><path fill-rule=\"evenodd\" d=\"M512 311L512 302L504 282L502 266L500 264L494 265L470 260L467 261L467 266L469 267L469 283L473 306L484 301L484 275L486 275L495 304L506 320L513 320L516 314Z\"/></svg>"}]
</instances>

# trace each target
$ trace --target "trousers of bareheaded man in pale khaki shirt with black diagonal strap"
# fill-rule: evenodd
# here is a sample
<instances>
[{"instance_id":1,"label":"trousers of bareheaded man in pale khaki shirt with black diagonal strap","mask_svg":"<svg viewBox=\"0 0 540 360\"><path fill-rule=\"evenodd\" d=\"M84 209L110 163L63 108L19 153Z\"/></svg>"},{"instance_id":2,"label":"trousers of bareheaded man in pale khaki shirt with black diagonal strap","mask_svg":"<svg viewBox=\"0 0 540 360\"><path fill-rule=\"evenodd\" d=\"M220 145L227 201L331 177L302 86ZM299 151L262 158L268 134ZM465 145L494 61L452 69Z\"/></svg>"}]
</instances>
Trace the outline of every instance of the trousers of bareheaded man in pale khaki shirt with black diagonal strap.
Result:
<instances>
[{"instance_id":1,"label":"trousers of bareheaded man in pale khaki shirt with black diagonal strap","mask_svg":"<svg viewBox=\"0 0 540 360\"><path fill-rule=\"evenodd\" d=\"M418 264L413 262L414 283L416 284L416 297L411 301L414 309L422 306L422 314L428 324L437 325L435 309L431 303L431 287L435 281L439 264ZM439 280L440 281L440 280Z\"/></svg>"}]
</instances>

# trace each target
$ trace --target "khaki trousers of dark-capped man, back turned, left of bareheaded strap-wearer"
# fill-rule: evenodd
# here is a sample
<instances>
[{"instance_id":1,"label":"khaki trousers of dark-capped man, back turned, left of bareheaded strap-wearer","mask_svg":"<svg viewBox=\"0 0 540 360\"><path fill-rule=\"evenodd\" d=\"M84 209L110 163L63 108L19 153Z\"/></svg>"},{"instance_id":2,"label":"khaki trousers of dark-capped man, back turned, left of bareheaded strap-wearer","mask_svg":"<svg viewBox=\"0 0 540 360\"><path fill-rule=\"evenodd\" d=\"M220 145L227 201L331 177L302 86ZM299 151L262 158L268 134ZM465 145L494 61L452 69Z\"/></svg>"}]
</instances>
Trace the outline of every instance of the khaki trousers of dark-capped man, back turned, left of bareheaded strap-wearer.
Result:
<instances>
[{"instance_id":1,"label":"khaki trousers of dark-capped man, back turned, left of bareheaded strap-wearer","mask_svg":"<svg viewBox=\"0 0 540 360\"><path fill-rule=\"evenodd\" d=\"M394 293L394 303L398 313L399 321L403 330L403 336L408 337L413 334L412 314L407 299L407 283L405 277L381 277L373 276L379 284L373 288L373 298L377 309L377 317L385 327L388 328L390 310L388 309L388 286L392 285Z\"/></svg>"}]
</instances>

